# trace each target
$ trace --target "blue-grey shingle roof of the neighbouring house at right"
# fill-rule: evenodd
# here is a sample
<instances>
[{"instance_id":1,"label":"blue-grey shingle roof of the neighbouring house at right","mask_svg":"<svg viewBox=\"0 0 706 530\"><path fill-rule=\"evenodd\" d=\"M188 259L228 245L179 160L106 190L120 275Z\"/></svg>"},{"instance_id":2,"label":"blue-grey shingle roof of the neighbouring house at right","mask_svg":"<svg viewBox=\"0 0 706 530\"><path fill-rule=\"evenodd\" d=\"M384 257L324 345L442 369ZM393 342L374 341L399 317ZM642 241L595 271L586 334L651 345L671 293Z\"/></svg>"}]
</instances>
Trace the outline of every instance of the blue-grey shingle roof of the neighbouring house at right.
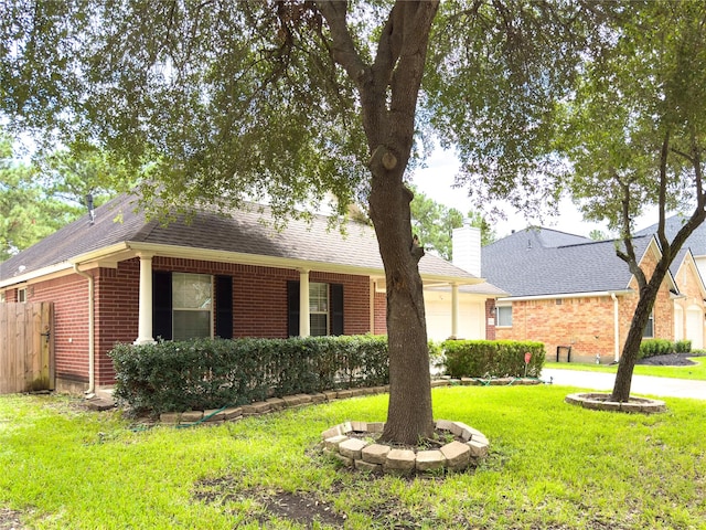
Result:
<instances>
[{"instance_id":1,"label":"blue-grey shingle roof of the neighbouring house at right","mask_svg":"<svg viewBox=\"0 0 706 530\"><path fill-rule=\"evenodd\" d=\"M581 236L570 237L570 234L554 237L553 232L528 229L483 247L483 277L513 297L628 288L632 275L628 265L616 255L614 241L595 242ZM545 236L547 233L548 237ZM574 240L575 243L556 245L559 240ZM650 241L651 236L634 239L638 256L644 254Z\"/></svg>"}]
</instances>

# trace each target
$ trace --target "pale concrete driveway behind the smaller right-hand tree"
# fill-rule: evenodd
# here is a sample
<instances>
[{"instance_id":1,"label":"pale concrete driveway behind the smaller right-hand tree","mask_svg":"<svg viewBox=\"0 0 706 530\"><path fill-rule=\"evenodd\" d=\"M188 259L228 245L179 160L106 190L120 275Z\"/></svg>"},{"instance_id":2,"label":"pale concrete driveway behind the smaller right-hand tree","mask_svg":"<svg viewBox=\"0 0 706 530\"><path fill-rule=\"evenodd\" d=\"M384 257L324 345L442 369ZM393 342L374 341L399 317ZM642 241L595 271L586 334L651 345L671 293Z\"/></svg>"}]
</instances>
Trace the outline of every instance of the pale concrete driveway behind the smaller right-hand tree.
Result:
<instances>
[{"instance_id":1,"label":"pale concrete driveway behind the smaller right-hand tree","mask_svg":"<svg viewBox=\"0 0 706 530\"><path fill-rule=\"evenodd\" d=\"M545 368L542 371L541 379L543 381L552 381L553 384L600 391L613 390L613 383L616 382L616 375L612 373L580 372L550 368ZM706 381L633 375L630 394L706 400Z\"/></svg>"}]
</instances>

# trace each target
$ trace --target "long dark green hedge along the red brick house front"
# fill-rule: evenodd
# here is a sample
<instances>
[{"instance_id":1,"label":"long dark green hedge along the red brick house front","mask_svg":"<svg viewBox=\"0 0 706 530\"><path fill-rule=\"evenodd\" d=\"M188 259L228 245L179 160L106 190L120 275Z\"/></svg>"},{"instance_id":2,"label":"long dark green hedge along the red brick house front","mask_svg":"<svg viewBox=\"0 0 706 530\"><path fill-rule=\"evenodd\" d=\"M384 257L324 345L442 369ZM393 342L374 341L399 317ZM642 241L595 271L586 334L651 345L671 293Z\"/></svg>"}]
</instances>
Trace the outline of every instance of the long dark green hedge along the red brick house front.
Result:
<instances>
[{"instance_id":1,"label":"long dark green hedge along the red brick house front","mask_svg":"<svg viewBox=\"0 0 706 530\"><path fill-rule=\"evenodd\" d=\"M116 399L136 413L218 409L389 382L387 338L194 339L116 344Z\"/></svg>"}]
</instances>

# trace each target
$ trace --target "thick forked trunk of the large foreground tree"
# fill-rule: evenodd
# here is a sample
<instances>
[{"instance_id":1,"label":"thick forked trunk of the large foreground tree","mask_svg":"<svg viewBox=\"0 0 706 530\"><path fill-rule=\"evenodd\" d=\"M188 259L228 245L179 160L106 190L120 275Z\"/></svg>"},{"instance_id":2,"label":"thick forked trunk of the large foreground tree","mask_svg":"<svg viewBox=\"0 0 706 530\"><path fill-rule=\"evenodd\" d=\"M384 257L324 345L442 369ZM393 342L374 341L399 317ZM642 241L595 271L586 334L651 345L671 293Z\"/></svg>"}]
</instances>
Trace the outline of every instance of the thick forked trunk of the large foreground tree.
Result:
<instances>
[{"instance_id":1,"label":"thick forked trunk of the large foreground tree","mask_svg":"<svg viewBox=\"0 0 706 530\"><path fill-rule=\"evenodd\" d=\"M318 1L331 51L356 84L371 152L370 206L387 282L389 406L383 439L416 444L432 433L431 381L418 262L404 186L415 134L417 98L439 0L397 0L366 63L346 23L347 2Z\"/></svg>"}]
</instances>

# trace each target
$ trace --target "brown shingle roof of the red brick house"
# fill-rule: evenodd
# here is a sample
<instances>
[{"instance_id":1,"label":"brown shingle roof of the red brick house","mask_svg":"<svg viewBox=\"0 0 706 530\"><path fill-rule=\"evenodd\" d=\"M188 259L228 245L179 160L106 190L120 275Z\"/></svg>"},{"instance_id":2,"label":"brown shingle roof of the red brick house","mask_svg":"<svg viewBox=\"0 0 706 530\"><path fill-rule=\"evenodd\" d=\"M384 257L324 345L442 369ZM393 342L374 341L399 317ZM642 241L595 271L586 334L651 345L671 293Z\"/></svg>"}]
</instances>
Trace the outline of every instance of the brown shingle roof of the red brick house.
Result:
<instances>
[{"instance_id":1,"label":"brown shingle roof of the red brick house","mask_svg":"<svg viewBox=\"0 0 706 530\"><path fill-rule=\"evenodd\" d=\"M84 253L98 251L121 242L140 242L178 247L216 250L257 256L301 259L335 264L351 269L383 272L377 240L373 229L347 223L345 235L329 226L328 218L314 215L311 223L290 220L284 230L268 225L268 209L259 205L225 216L200 211L190 224L183 221L162 226L146 222L135 211L133 198L120 195L96 210L92 225L88 216L64 226L34 246L0 264L0 280L68 262ZM440 257L427 254L419 263L422 275L472 279L474 276Z\"/></svg>"}]
</instances>

